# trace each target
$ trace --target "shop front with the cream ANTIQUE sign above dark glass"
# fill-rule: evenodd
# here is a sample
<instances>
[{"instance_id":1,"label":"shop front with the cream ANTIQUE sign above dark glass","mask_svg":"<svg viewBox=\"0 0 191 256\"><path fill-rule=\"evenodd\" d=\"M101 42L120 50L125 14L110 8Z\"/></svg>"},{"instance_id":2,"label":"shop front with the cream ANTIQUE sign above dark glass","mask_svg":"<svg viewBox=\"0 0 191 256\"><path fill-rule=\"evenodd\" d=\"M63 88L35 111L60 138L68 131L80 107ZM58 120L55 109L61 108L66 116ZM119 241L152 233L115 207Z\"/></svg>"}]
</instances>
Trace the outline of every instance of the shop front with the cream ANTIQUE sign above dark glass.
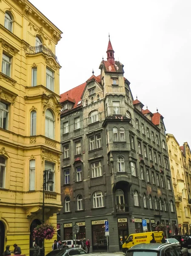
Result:
<instances>
[{"instance_id":1,"label":"shop front with the cream ANTIQUE sign above dark glass","mask_svg":"<svg viewBox=\"0 0 191 256\"><path fill-rule=\"evenodd\" d=\"M91 221L93 251L107 250L107 238L105 236L105 221L107 221L107 219Z\"/></svg>"}]
</instances>

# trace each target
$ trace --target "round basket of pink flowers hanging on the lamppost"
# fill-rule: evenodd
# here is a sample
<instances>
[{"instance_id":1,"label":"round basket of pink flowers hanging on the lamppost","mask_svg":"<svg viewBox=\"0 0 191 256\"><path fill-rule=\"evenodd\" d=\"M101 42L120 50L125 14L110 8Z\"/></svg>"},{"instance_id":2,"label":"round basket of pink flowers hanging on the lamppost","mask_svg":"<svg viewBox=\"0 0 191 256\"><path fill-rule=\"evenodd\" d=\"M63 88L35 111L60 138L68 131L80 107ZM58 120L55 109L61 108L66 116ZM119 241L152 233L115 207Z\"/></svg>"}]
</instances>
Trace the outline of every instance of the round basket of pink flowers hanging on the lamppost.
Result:
<instances>
[{"instance_id":1,"label":"round basket of pink flowers hanging on the lamppost","mask_svg":"<svg viewBox=\"0 0 191 256\"><path fill-rule=\"evenodd\" d=\"M33 230L33 237L34 239L46 239L46 240L50 240L53 238L54 236L54 227L52 224L49 223L44 223L44 224L40 224L37 225L37 227L34 228Z\"/></svg>"}]
</instances>

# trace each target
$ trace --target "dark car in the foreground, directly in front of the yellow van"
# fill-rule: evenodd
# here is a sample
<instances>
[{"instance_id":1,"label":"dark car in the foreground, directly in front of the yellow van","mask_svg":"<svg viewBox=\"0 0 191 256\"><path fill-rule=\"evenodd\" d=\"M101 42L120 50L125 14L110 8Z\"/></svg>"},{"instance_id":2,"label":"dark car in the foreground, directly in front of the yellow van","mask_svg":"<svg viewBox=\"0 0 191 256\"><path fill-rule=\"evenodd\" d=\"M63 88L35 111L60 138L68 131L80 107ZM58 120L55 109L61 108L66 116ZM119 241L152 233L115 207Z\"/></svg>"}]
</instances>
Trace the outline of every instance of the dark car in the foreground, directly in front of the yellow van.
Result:
<instances>
[{"instance_id":1,"label":"dark car in the foreground, directly in front of the yellow van","mask_svg":"<svg viewBox=\"0 0 191 256\"><path fill-rule=\"evenodd\" d=\"M182 251L173 244L137 244L125 256L182 256Z\"/></svg>"}]
</instances>

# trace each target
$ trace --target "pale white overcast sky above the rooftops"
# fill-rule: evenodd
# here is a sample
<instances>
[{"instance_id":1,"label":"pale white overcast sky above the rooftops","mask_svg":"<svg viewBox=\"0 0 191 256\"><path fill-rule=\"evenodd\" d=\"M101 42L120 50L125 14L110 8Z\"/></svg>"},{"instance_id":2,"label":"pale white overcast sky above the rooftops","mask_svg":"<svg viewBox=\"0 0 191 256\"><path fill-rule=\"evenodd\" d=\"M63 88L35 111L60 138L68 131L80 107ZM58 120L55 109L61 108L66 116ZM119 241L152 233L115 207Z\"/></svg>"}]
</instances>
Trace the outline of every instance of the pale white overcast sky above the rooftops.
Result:
<instances>
[{"instance_id":1,"label":"pale white overcast sky above the rooftops","mask_svg":"<svg viewBox=\"0 0 191 256\"><path fill-rule=\"evenodd\" d=\"M99 75L108 33L134 99L191 146L191 0L30 0L60 30L60 93Z\"/></svg>"}]
</instances>

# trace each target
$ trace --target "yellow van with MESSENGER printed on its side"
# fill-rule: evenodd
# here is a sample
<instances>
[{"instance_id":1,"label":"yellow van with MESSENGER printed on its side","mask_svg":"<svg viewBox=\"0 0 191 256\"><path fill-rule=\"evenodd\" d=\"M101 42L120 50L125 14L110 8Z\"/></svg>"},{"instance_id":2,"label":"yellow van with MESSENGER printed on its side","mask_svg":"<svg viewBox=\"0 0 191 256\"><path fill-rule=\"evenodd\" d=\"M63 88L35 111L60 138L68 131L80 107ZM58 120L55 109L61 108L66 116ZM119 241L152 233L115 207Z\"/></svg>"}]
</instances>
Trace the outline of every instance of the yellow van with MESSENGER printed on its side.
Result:
<instances>
[{"instance_id":1,"label":"yellow van with MESSENGER printed on its side","mask_svg":"<svg viewBox=\"0 0 191 256\"><path fill-rule=\"evenodd\" d=\"M165 237L162 231L131 234L123 244L122 250L125 253L132 246L142 243L165 243Z\"/></svg>"}]
</instances>

